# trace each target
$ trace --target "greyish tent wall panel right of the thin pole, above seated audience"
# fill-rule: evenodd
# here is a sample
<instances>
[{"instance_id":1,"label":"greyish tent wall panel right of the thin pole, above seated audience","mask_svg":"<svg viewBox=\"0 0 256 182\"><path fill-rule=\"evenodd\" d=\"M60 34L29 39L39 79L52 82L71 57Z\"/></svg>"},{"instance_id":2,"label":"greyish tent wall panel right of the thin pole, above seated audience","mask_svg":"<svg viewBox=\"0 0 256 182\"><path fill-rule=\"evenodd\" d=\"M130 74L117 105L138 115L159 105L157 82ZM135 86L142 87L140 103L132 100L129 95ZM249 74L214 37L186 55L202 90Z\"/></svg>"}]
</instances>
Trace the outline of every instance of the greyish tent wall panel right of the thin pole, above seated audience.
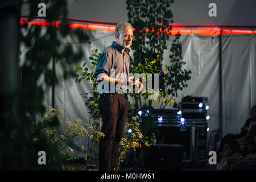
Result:
<instances>
[{"instance_id":1,"label":"greyish tent wall panel right of the thin pole, above seated audience","mask_svg":"<svg viewBox=\"0 0 256 182\"><path fill-rule=\"evenodd\" d=\"M239 133L255 99L255 36L224 36L222 47L222 134Z\"/></svg>"}]
</instances>

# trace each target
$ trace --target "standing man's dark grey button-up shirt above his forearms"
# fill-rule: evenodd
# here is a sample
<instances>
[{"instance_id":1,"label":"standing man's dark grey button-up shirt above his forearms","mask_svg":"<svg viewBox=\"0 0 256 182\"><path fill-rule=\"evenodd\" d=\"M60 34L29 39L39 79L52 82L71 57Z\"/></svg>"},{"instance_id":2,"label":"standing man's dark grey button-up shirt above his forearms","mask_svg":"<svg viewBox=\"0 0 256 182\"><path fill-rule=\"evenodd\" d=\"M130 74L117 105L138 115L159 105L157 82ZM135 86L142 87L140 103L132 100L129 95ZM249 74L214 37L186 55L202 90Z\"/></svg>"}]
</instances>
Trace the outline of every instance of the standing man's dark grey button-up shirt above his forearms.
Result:
<instances>
[{"instance_id":1,"label":"standing man's dark grey button-up shirt above his forearms","mask_svg":"<svg viewBox=\"0 0 256 182\"><path fill-rule=\"evenodd\" d=\"M129 76L130 57L122 47L113 42L111 46L102 51L97 59L96 71L94 76L97 78L100 73L105 73L109 77L119 79L118 74L124 73L126 77ZM112 69L112 72L110 72ZM115 75L113 74L115 71Z\"/></svg>"}]
</instances>

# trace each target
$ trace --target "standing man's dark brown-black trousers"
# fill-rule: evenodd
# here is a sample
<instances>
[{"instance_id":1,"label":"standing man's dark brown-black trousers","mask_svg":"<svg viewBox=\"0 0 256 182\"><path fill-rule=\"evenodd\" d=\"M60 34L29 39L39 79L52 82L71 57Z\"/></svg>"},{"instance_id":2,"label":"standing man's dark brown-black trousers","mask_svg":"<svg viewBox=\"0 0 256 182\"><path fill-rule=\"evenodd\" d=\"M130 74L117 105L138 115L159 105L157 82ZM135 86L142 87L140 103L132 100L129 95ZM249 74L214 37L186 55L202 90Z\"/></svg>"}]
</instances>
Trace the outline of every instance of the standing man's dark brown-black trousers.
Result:
<instances>
[{"instance_id":1,"label":"standing man's dark brown-black trousers","mask_svg":"<svg viewBox=\"0 0 256 182\"><path fill-rule=\"evenodd\" d=\"M102 114L100 139L99 170L113 170L118 158L119 142L123 137L123 129L128 113L127 94L101 94L100 113Z\"/></svg>"}]
</instances>

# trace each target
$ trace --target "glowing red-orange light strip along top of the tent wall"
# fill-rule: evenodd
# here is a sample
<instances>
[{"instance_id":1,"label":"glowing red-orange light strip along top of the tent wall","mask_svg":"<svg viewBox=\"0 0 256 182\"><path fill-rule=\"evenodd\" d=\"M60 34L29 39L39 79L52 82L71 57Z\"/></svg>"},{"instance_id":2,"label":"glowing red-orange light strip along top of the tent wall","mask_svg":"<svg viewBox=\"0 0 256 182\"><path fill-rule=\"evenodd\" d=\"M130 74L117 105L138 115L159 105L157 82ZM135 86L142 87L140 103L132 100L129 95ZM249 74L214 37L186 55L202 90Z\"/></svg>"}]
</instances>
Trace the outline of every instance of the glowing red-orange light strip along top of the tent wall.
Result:
<instances>
[{"instance_id":1,"label":"glowing red-orange light strip along top of the tent wall","mask_svg":"<svg viewBox=\"0 0 256 182\"><path fill-rule=\"evenodd\" d=\"M24 20L20 20L20 24L24 24L26 23L26 21ZM56 26L59 27L59 23L56 23ZM40 21L32 21L32 22L27 22L27 24L36 24L36 25L42 25L42 26L55 26L55 23L48 23L48 22L40 22ZM86 30L105 30L105 31L115 31L115 27L108 27L108 26L98 26L95 24L76 24L76 23L69 23L69 26L71 28L84 28ZM146 32L148 32L149 30L146 29ZM142 31L141 31L142 32ZM155 32L155 30L151 30L151 32ZM182 29L182 27L178 27L175 26L173 27L172 30L170 30L169 32L167 32L166 30L162 31L158 31L156 32L157 34L163 34L164 32L166 32L167 34L170 35L176 35L178 32L180 32L180 34L201 34L201 35L220 35L220 30L218 29L196 29L196 30L192 30L192 29ZM253 30L222 30L222 34L256 34L256 31Z\"/></svg>"}]
</instances>

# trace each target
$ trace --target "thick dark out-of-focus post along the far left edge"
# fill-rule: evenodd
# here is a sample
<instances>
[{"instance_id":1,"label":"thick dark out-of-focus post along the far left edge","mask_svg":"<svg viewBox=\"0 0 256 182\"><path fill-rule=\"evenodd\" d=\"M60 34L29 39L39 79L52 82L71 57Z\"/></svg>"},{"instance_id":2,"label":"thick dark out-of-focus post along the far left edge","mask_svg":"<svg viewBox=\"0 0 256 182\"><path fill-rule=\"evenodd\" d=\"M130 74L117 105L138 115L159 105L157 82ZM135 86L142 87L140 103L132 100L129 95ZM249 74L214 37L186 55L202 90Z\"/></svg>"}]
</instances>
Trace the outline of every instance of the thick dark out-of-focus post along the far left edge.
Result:
<instances>
[{"instance_id":1,"label":"thick dark out-of-focus post along the far left edge","mask_svg":"<svg viewBox=\"0 0 256 182\"><path fill-rule=\"evenodd\" d=\"M0 129L17 123L19 117L20 1L0 1ZM0 132L1 133L1 132Z\"/></svg>"}]
</instances>

